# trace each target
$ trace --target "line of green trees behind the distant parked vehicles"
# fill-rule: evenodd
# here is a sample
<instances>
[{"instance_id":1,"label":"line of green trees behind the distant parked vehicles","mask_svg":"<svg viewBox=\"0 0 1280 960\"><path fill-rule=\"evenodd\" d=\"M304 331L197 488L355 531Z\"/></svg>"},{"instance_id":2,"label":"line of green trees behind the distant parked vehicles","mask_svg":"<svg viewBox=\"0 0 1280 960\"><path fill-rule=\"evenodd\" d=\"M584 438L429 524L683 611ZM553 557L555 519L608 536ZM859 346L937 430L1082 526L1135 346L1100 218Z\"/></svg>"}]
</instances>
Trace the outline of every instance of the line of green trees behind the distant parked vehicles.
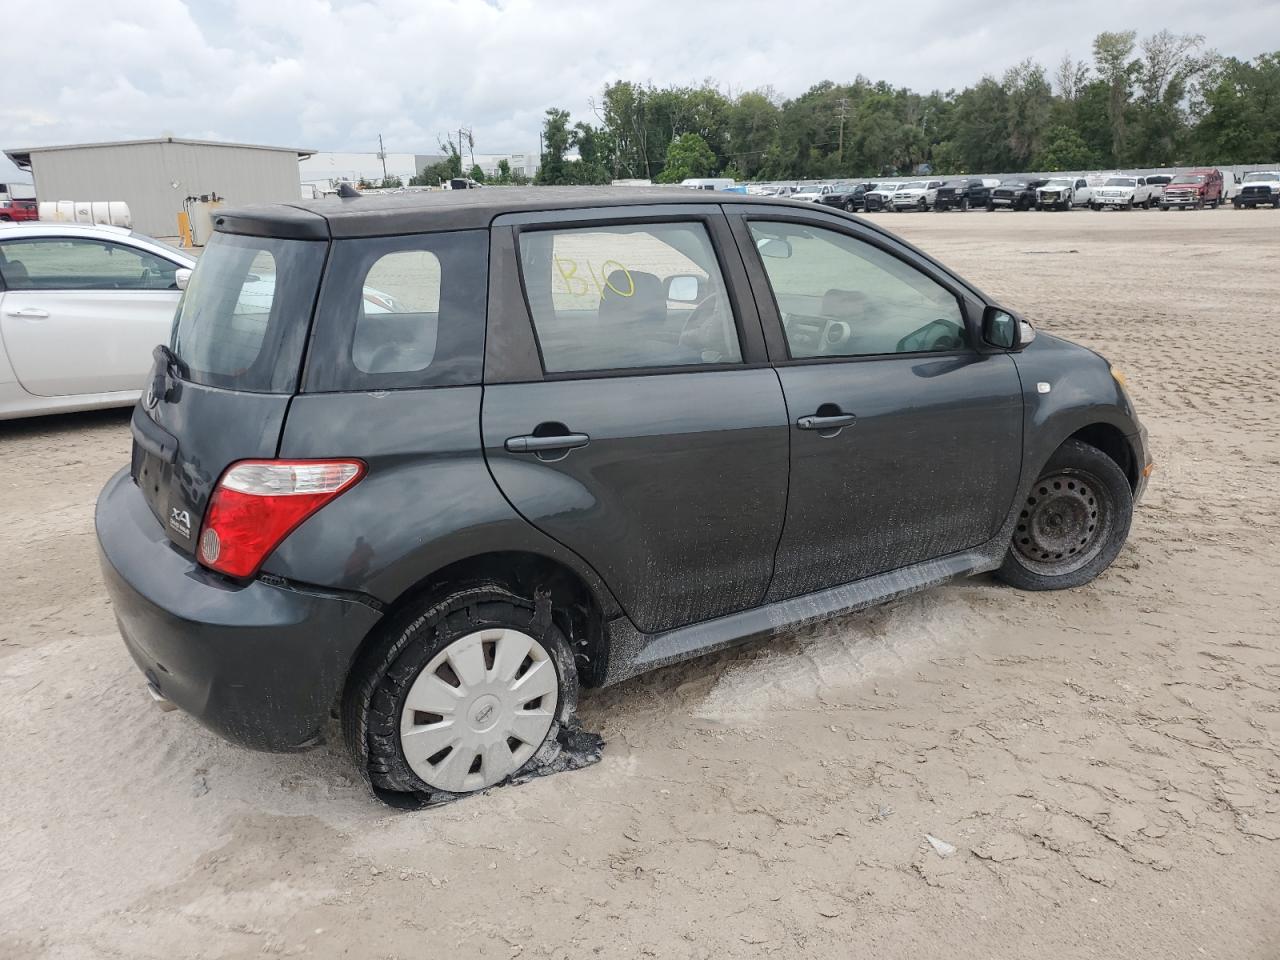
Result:
<instances>
[{"instance_id":1,"label":"line of green trees behind the distant parked vehicles","mask_svg":"<svg viewBox=\"0 0 1280 960\"><path fill-rule=\"evenodd\" d=\"M1280 160L1280 51L1220 56L1199 35L1100 33L1092 58L1024 60L959 92L823 81L791 100L714 82L618 81L593 119L552 108L538 183L861 178ZM576 151L579 159L568 160Z\"/></svg>"}]
</instances>

